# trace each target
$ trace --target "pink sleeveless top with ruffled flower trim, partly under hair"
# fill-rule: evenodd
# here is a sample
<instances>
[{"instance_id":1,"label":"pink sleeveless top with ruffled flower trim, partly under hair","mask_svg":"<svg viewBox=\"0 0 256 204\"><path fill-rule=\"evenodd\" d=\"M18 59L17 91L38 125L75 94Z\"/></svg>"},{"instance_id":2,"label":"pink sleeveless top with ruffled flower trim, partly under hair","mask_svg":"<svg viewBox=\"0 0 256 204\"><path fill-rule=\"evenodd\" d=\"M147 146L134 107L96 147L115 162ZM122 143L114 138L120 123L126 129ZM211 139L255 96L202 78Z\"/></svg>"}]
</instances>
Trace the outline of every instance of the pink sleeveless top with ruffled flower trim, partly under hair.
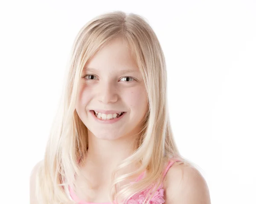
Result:
<instances>
[{"instance_id":1,"label":"pink sleeveless top with ruffled flower trim, partly under hair","mask_svg":"<svg viewBox=\"0 0 256 204\"><path fill-rule=\"evenodd\" d=\"M163 176L165 177L166 173L168 172L169 168L172 167L172 164L174 164L176 161L179 161L177 159L171 159L168 162L168 165L166 167L166 169L163 172ZM143 178L145 172L143 172L137 179L136 181L139 181L141 178ZM134 182L136 182L134 181ZM131 183L134 183L131 182ZM148 191L150 190L150 188L137 193L135 195L133 195L127 202L127 204L142 204L144 199L146 198L146 195L148 193ZM76 201L78 204L111 204L111 202L107 202L107 203L93 203L93 202L85 202L85 201L79 201L79 198L75 195L75 193L73 192L73 190L69 187L69 193L71 198ZM163 182L162 184L157 188L157 191L154 193L153 197L151 198L149 204L163 204L164 203L164 199L163 199Z\"/></svg>"}]
</instances>

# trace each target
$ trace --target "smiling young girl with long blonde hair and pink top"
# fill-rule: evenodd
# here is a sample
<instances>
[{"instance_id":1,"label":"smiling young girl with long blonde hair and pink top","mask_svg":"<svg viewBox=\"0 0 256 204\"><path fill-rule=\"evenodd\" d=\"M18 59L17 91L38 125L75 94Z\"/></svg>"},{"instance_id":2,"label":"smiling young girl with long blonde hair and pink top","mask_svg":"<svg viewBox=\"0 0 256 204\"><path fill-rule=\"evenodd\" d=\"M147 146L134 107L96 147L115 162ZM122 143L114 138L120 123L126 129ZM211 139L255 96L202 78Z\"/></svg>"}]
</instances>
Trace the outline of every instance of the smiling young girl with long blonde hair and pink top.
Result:
<instances>
[{"instance_id":1,"label":"smiling young girl with long blonde hair and pink top","mask_svg":"<svg viewBox=\"0 0 256 204\"><path fill-rule=\"evenodd\" d=\"M210 204L198 170L172 136L166 65L151 27L115 11L73 45L31 204Z\"/></svg>"}]
</instances>

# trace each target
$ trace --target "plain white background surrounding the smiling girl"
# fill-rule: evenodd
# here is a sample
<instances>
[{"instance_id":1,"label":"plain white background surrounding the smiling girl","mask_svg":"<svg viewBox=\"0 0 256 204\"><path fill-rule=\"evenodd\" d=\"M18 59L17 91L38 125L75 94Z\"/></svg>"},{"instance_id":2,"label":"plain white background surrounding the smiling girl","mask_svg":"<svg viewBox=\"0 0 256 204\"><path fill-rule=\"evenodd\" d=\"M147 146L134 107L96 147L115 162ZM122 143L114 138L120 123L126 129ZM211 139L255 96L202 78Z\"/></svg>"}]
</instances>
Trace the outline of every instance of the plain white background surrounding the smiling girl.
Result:
<instances>
[{"instance_id":1,"label":"plain white background surrounding the smiling girl","mask_svg":"<svg viewBox=\"0 0 256 204\"><path fill-rule=\"evenodd\" d=\"M163 48L172 129L212 204L255 204L256 1L23 0L0 3L0 203L29 203L69 52L84 24L122 10Z\"/></svg>"}]
</instances>

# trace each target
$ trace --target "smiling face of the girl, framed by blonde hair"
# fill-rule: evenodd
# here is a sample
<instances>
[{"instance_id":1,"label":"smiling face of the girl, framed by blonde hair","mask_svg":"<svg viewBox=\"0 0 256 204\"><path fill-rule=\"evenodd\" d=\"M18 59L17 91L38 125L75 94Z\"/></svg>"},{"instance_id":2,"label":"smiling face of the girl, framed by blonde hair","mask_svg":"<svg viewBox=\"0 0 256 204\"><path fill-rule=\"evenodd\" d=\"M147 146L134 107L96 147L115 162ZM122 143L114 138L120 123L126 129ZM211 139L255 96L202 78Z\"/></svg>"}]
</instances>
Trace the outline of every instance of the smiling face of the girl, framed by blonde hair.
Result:
<instances>
[{"instance_id":1,"label":"smiling face of the girl, framed by blonde hair","mask_svg":"<svg viewBox=\"0 0 256 204\"><path fill-rule=\"evenodd\" d=\"M89 136L114 140L138 133L147 109L145 85L128 44L112 40L84 66L76 103L79 118ZM97 118L94 110L113 115L98 113ZM119 117L119 112L124 113Z\"/></svg>"}]
</instances>

